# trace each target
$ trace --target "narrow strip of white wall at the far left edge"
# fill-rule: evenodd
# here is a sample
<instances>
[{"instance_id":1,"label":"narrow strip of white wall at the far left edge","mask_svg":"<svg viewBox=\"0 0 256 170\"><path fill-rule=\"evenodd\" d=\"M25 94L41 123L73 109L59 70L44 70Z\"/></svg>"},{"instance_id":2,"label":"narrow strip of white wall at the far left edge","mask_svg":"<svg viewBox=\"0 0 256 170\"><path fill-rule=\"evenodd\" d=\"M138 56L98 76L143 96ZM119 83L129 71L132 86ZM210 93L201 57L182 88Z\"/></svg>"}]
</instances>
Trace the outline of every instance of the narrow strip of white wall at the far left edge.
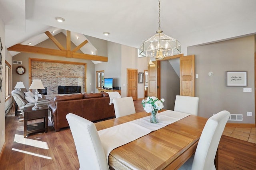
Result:
<instances>
[{"instance_id":1,"label":"narrow strip of white wall at the far left edge","mask_svg":"<svg viewBox=\"0 0 256 170\"><path fill-rule=\"evenodd\" d=\"M4 110L5 110L5 25L2 19L0 18L0 37L1 37L1 42L2 42L2 91L0 91L0 150L2 151L3 146L4 146L4 138L5 138L5 115L4 115Z\"/></svg>"}]
</instances>

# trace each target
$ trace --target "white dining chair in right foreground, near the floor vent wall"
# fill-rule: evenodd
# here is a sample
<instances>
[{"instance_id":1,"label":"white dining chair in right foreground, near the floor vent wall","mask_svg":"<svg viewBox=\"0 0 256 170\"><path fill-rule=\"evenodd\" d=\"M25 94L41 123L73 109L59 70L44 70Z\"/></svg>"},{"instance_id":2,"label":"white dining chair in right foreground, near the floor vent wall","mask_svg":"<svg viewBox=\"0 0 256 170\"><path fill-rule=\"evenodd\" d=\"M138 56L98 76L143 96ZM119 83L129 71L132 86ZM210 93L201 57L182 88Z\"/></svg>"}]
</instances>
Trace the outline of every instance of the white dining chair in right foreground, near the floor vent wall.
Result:
<instances>
[{"instance_id":1,"label":"white dining chair in right foreground, near the floor vent wall","mask_svg":"<svg viewBox=\"0 0 256 170\"><path fill-rule=\"evenodd\" d=\"M216 170L214 158L229 116L230 113L224 110L207 120L195 154L179 170Z\"/></svg>"}]
</instances>

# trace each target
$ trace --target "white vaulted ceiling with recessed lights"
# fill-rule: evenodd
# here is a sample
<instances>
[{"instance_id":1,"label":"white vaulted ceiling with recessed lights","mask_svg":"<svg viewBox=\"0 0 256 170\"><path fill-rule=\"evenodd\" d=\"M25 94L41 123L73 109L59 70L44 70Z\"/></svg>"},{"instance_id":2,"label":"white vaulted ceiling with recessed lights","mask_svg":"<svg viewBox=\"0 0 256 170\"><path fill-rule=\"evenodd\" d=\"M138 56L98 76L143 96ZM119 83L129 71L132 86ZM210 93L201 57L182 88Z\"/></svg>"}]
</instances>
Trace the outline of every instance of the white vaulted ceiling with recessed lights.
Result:
<instances>
[{"instance_id":1,"label":"white vaulted ceiling with recessed lights","mask_svg":"<svg viewBox=\"0 0 256 170\"><path fill-rule=\"evenodd\" d=\"M162 0L161 28L186 55L188 46L255 34L255 7L255 0ZM158 0L0 0L0 18L7 48L63 30L138 48L158 28Z\"/></svg>"}]
</instances>

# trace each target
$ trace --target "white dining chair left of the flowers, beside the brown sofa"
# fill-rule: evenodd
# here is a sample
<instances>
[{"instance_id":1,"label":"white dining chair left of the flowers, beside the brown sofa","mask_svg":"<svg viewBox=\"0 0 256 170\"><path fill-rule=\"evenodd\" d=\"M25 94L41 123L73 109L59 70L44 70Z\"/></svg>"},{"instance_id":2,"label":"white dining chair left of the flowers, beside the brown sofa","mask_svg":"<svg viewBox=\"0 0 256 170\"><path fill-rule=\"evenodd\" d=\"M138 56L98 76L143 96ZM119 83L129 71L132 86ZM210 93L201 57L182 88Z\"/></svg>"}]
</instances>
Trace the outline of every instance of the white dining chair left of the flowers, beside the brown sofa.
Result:
<instances>
[{"instance_id":1,"label":"white dining chair left of the flowers, beside the brown sofa","mask_svg":"<svg viewBox=\"0 0 256 170\"><path fill-rule=\"evenodd\" d=\"M114 98L113 104L116 118L136 113L132 97Z\"/></svg>"}]
</instances>

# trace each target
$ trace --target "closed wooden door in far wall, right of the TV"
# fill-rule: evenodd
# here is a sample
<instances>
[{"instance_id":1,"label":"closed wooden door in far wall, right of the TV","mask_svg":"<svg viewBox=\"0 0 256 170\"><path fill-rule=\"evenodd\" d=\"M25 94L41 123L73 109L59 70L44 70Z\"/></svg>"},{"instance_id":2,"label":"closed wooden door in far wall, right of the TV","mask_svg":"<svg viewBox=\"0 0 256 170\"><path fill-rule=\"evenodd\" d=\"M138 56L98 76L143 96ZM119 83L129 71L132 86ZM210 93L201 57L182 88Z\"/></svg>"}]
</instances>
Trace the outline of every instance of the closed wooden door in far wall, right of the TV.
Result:
<instances>
[{"instance_id":1,"label":"closed wooden door in far wall, right of the TV","mask_svg":"<svg viewBox=\"0 0 256 170\"><path fill-rule=\"evenodd\" d=\"M138 70L127 68L127 97L137 100Z\"/></svg>"}]
</instances>

